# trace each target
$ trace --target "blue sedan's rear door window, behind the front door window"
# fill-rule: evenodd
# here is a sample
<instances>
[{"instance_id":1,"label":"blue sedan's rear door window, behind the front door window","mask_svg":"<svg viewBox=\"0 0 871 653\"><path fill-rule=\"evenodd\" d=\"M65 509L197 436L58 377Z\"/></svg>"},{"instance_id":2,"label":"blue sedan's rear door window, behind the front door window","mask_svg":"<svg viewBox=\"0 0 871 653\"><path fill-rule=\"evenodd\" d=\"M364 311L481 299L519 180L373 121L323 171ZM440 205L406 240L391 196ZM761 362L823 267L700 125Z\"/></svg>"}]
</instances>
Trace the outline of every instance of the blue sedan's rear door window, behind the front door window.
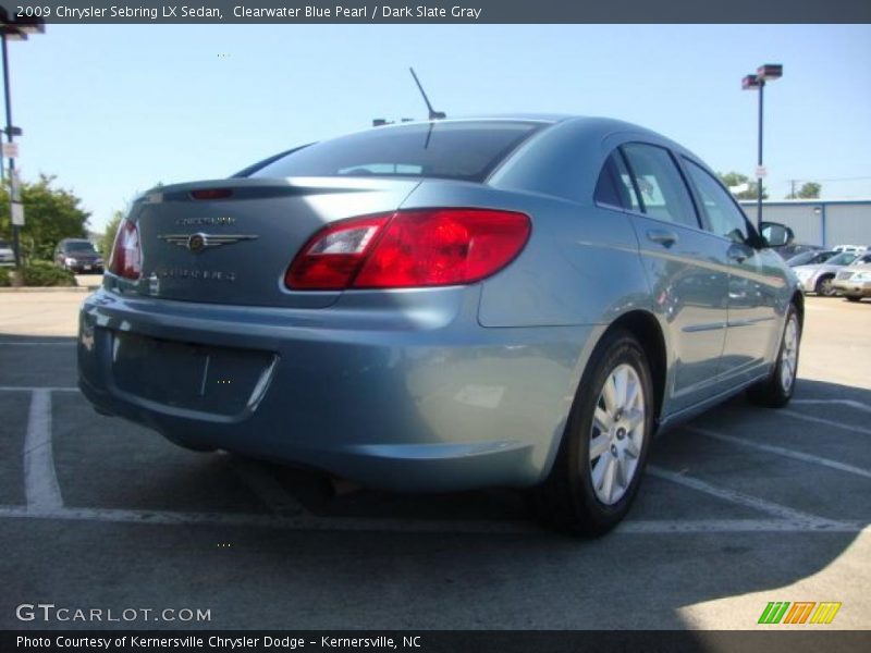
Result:
<instances>
[{"instance_id":1,"label":"blue sedan's rear door window, behind the front door window","mask_svg":"<svg viewBox=\"0 0 871 653\"><path fill-rule=\"evenodd\" d=\"M699 229L684 177L668 150L641 143L622 149L640 195L641 210L657 220Z\"/></svg>"}]
</instances>

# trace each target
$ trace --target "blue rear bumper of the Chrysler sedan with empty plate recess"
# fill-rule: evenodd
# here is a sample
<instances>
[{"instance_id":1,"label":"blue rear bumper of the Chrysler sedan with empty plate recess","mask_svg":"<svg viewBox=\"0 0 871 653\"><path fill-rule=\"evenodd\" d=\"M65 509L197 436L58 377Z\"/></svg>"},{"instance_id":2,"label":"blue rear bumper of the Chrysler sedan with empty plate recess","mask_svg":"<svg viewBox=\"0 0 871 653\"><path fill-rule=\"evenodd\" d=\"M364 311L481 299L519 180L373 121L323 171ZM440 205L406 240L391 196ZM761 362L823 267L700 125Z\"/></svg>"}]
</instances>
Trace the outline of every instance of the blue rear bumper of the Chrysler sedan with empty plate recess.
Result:
<instances>
[{"instance_id":1,"label":"blue rear bumper of the Chrysler sedan with empty plate recess","mask_svg":"<svg viewBox=\"0 0 871 653\"><path fill-rule=\"evenodd\" d=\"M353 295L311 310L99 291L81 312L79 385L170 440L371 485L543 479L601 328L481 328L478 286L377 307Z\"/></svg>"}]
</instances>

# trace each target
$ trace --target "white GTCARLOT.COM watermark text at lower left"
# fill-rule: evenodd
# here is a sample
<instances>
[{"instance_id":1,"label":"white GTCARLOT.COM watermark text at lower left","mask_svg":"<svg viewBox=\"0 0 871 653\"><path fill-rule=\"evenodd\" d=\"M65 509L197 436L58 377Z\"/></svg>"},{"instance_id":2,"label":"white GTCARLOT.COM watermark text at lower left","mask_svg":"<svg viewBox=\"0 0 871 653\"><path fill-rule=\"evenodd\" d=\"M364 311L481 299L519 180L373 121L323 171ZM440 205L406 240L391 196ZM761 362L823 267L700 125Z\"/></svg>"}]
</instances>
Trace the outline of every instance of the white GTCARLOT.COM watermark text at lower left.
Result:
<instances>
[{"instance_id":1,"label":"white GTCARLOT.COM watermark text at lower left","mask_svg":"<svg viewBox=\"0 0 871 653\"><path fill-rule=\"evenodd\" d=\"M20 621L86 624L131 623L131 621L167 621L189 623L211 621L211 609L199 607L65 607L53 603L22 603L15 608L15 617Z\"/></svg>"}]
</instances>

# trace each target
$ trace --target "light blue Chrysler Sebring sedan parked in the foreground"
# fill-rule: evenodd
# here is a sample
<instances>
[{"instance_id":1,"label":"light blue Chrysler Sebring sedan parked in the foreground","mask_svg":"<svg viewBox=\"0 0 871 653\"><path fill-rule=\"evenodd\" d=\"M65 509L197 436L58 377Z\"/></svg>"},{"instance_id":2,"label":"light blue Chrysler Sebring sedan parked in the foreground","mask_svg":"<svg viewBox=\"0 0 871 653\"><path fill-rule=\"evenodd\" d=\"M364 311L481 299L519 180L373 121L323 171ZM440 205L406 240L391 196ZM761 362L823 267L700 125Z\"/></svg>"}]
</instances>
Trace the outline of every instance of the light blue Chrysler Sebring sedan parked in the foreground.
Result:
<instances>
[{"instance_id":1,"label":"light blue Chrysler Sebring sedan parked in the foreground","mask_svg":"<svg viewBox=\"0 0 871 653\"><path fill-rule=\"evenodd\" d=\"M403 491L533 488L592 535L658 429L793 393L802 295L716 176L603 119L402 124L156 188L82 309L81 386L193 449Z\"/></svg>"}]
</instances>

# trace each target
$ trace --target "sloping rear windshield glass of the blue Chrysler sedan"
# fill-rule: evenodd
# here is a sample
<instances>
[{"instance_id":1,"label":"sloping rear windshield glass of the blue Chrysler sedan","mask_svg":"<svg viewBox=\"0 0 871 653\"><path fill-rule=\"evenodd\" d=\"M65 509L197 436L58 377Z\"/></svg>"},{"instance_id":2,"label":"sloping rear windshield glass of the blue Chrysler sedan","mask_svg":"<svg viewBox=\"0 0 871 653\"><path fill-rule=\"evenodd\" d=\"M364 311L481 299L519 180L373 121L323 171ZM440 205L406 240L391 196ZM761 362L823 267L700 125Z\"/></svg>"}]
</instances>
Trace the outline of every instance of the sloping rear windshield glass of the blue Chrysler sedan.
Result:
<instances>
[{"instance_id":1,"label":"sloping rear windshield glass of the blue Chrysler sedan","mask_svg":"<svg viewBox=\"0 0 871 653\"><path fill-rule=\"evenodd\" d=\"M541 126L469 121L379 127L295 150L250 176L377 175L481 182Z\"/></svg>"}]
</instances>

